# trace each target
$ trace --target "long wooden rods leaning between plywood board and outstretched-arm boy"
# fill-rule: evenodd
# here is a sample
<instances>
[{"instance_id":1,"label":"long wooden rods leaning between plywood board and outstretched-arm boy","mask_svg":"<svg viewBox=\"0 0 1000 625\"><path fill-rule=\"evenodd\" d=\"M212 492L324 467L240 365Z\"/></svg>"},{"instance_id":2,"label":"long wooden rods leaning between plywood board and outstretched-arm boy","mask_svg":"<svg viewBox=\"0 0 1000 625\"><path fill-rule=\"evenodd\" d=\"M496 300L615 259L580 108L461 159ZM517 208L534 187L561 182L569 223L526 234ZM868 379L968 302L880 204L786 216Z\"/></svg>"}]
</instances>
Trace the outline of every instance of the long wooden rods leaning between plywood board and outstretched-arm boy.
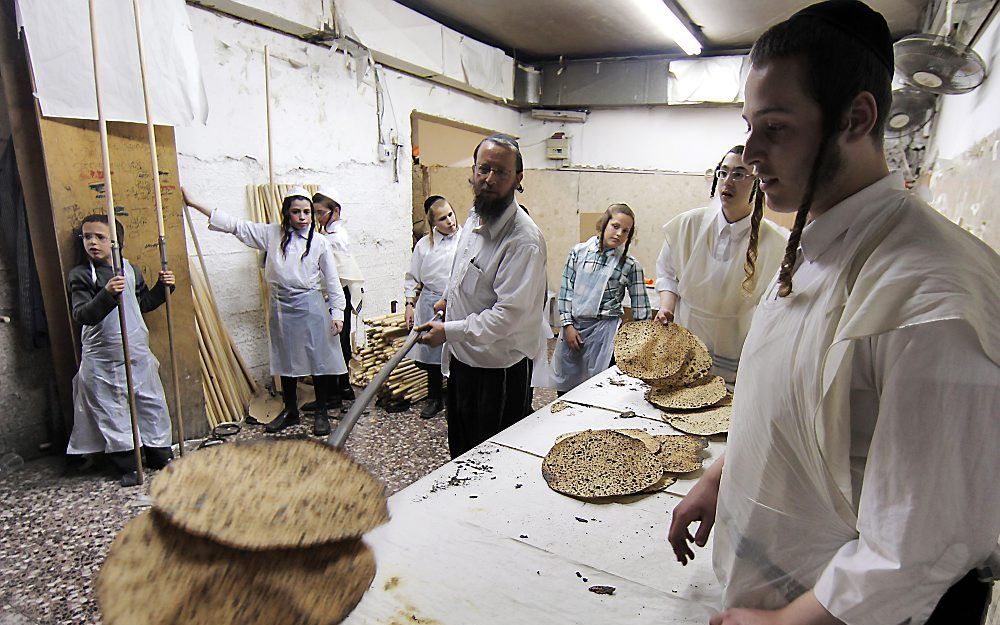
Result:
<instances>
[{"instance_id":1,"label":"long wooden rods leaning between plywood board and outstretched-arm boy","mask_svg":"<svg viewBox=\"0 0 1000 625\"><path fill-rule=\"evenodd\" d=\"M242 421L257 392L257 384L236 350L205 278L194 263L191 263L191 291L208 424L214 428L223 421Z\"/></svg>"}]
</instances>

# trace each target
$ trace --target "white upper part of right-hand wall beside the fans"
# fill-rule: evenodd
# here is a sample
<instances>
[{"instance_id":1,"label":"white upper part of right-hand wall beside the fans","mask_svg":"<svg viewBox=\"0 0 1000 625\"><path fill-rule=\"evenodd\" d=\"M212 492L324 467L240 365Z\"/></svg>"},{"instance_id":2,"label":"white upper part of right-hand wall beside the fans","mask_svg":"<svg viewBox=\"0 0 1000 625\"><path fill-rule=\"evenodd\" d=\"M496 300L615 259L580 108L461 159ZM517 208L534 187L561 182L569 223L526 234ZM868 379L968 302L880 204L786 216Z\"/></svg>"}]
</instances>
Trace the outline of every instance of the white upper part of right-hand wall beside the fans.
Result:
<instances>
[{"instance_id":1,"label":"white upper part of right-hand wall beside the fans","mask_svg":"<svg viewBox=\"0 0 1000 625\"><path fill-rule=\"evenodd\" d=\"M986 61L986 80L974 91L942 98L931 143L941 159L960 156L1000 128L1000 19L994 16L974 49Z\"/></svg>"}]
</instances>

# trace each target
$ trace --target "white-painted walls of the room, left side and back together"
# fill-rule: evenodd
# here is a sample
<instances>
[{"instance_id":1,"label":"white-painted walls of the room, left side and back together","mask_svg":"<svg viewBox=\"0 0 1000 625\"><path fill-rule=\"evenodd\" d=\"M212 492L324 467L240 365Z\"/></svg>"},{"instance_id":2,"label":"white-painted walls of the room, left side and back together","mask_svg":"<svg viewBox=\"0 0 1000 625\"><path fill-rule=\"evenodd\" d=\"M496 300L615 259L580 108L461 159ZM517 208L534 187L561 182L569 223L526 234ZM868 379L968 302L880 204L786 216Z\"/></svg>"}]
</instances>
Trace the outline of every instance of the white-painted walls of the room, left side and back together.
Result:
<instances>
[{"instance_id":1,"label":"white-painted walls of the room, left side and back together","mask_svg":"<svg viewBox=\"0 0 1000 625\"><path fill-rule=\"evenodd\" d=\"M366 316L388 312L389 303L402 297L411 243L414 110L517 134L527 168L552 166L544 139L557 130L573 137L573 165L686 172L714 166L743 136L737 107L600 110L586 124L562 125L384 70L385 124L402 144L394 182L391 163L377 154L371 77L359 82L345 55L200 8L188 11L210 112L207 126L176 131L182 183L203 203L249 217L246 186L267 182L262 51L269 45L276 181L340 190L367 279ZM194 219L220 310L248 364L264 379L267 343L256 254L229 235L209 232L200 215Z\"/></svg>"}]
</instances>

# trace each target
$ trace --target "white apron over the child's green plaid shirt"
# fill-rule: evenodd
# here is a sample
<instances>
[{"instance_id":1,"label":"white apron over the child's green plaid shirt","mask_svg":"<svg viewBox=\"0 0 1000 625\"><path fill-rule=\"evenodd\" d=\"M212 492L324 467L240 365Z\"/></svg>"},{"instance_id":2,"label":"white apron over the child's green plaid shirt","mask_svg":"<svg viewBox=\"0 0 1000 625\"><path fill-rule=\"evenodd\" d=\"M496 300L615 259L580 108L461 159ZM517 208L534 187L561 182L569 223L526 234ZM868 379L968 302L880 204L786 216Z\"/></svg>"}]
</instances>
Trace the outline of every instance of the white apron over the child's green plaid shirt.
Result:
<instances>
[{"instance_id":1,"label":"white apron over the child's green plaid shirt","mask_svg":"<svg viewBox=\"0 0 1000 625\"><path fill-rule=\"evenodd\" d=\"M601 299L608 286L608 280L621 261L622 250L618 248L613 260L601 267L600 271L584 271L586 251L597 249L597 237L591 237L576 249L576 278L573 281L573 327L583 338L579 351L566 344L565 328L559 331L555 353L552 355L552 386L557 391L568 391L594 377L611 366L614 355L614 338L620 318L599 319Z\"/></svg>"}]
</instances>

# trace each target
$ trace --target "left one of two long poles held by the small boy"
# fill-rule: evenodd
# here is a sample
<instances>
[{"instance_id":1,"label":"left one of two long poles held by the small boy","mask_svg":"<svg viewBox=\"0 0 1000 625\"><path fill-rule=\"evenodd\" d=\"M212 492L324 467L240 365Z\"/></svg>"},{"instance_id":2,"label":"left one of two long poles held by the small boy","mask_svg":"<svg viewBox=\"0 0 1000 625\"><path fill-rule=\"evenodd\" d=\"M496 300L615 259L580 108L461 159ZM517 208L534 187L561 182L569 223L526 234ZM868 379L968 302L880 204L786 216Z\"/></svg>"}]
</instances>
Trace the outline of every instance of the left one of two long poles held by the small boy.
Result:
<instances>
[{"instance_id":1,"label":"left one of two long poles held by the small boy","mask_svg":"<svg viewBox=\"0 0 1000 625\"><path fill-rule=\"evenodd\" d=\"M111 231L111 266L116 276L124 276L121 248L118 247L118 227L115 221L115 199L111 188L111 156L108 152L108 122L104 118L101 100L101 63L97 50L97 2L90 0L90 46L94 59L94 94L97 97L97 130L101 136L101 165L104 167L104 200L108 210L108 230ZM132 422L132 450L135 452L135 472L138 483L143 482L142 444L139 440L139 422L136 419L135 386L132 383L132 359L128 349L128 328L125 323L124 294L118 296L118 322L121 326L122 352L125 356L125 386L128 391L128 410Z\"/></svg>"}]
</instances>

